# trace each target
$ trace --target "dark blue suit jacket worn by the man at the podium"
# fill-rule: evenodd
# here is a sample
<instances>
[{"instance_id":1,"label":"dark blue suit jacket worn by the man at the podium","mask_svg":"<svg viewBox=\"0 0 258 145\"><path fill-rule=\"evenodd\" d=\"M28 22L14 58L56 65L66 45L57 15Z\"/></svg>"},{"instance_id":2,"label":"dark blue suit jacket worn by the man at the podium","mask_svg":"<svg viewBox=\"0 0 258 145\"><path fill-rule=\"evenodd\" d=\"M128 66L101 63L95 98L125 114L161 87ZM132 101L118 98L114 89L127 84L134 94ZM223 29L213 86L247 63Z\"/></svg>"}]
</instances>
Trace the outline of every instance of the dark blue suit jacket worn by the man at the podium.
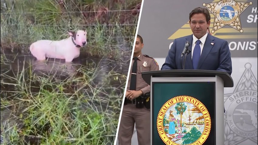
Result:
<instances>
[{"instance_id":1,"label":"dark blue suit jacket worn by the man at the podium","mask_svg":"<svg viewBox=\"0 0 258 145\"><path fill-rule=\"evenodd\" d=\"M182 69L181 63L185 56L182 57L181 61L181 53L187 41L190 42L188 49L192 51L192 39L192 35L175 39L161 70ZM193 69L191 52L186 56L185 69ZM232 62L228 42L208 34L197 69L224 71L231 75Z\"/></svg>"}]
</instances>

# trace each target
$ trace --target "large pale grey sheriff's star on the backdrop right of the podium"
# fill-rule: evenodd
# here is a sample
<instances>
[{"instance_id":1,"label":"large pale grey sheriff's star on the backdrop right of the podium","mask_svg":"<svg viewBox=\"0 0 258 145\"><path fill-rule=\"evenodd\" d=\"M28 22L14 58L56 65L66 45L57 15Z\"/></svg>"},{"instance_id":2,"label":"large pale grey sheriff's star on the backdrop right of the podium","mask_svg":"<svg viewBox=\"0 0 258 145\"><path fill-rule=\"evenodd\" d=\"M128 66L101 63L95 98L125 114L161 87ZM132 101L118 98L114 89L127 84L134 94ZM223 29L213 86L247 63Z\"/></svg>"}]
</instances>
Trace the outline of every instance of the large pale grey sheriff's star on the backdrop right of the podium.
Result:
<instances>
[{"instance_id":1,"label":"large pale grey sheriff's star on the backdrop right of the podium","mask_svg":"<svg viewBox=\"0 0 258 145\"><path fill-rule=\"evenodd\" d=\"M257 79L251 67L250 63L245 64L233 93L224 96L225 144L237 145L245 140L257 144Z\"/></svg>"}]
</instances>

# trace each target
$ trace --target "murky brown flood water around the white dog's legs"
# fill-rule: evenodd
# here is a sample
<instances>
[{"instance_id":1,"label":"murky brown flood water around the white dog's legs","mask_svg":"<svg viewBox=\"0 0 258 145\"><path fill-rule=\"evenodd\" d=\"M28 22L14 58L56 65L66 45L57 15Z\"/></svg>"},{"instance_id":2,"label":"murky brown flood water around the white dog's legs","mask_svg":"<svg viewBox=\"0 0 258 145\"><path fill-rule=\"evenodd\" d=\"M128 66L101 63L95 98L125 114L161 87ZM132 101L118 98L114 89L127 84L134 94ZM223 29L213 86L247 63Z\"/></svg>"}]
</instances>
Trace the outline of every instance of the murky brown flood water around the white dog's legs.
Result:
<instances>
[{"instance_id":1,"label":"murky brown flood water around the white dog's legs","mask_svg":"<svg viewBox=\"0 0 258 145\"><path fill-rule=\"evenodd\" d=\"M122 43L121 46L124 47ZM127 48L129 47L127 46ZM130 61L128 61L130 55L124 55L122 53L120 60L106 57L94 57L81 53L80 57L74 59L71 63L67 63L60 59L47 59L46 62L41 62L31 55L1 54L1 59L1 102L2 98L8 98L9 101L15 102L13 99L17 98L17 96L15 96L17 94L17 92L15 93L15 91L17 91L17 89L15 89L17 79L24 80L24 82L20 81L22 84L19 85L26 85L28 84L27 80L36 78L37 76L59 82L67 81L69 79L72 81L78 77L85 77L87 79L87 85L75 81L75 84L71 83L70 93L74 90L78 90L80 91L80 94L83 94L91 100L87 103L81 102L79 105L81 110L87 111L88 108L92 108L97 112L106 113L109 111L115 112L114 107L110 105L110 94L120 96L123 93L122 88L126 81L126 77L124 76L127 76L130 63ZM81 69L83 69L83 71L80 71ZM37 83L32 84L30 93L39 92L40 85L41 84ZM101 93L98 93L101 102L92 99L94 98L93 88L101 88ZM122 102L118 101L116 103L117 108L120 108L121 106L119 105L121 105ZM15 106L14 112L13 106L3 107L1 103L1 144L4 140L2 134L6 132L6 129L9 130L10 128L2 128L2 126L5 126L4 124L8 123L9 126L21 128L23 120L18 120L16 115L22 112L25 107L26 106L22 104L20 106ZM16 123L18 125L15 125ZM112 139L110 138L110 140ZM28 140L28 142L33 144L39 143L39 139L33 137L26 138L25 140Z\"/></svg>"}]
</instances>

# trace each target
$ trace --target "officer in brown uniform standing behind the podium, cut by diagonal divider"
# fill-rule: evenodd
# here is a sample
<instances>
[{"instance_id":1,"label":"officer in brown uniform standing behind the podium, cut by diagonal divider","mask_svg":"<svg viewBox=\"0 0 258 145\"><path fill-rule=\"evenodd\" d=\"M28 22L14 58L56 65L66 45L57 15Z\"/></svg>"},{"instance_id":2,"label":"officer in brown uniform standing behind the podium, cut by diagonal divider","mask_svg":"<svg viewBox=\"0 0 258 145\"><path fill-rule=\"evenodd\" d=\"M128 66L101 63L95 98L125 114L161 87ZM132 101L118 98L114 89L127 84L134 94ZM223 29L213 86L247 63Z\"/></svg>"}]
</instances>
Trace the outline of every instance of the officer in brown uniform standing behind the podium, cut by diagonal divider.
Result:
<instances>
[{"instance_id":1,"label":"officer in brown uniform standing behind the podium, cut by diagonal divider","mask_svg":"<svg viewBox=\"0 0 258 145\"><path fill-rule=\"evenodd\" d=\"M149 145L151 142L150 104L148 104L151 86L142 79L141 73L159 70L159 66L155 59L141 53L142 48L143 40L140 35L137 35L118 131L119 145L131 145L134 123L138 144Z\"/></svg>"}]
</instances>

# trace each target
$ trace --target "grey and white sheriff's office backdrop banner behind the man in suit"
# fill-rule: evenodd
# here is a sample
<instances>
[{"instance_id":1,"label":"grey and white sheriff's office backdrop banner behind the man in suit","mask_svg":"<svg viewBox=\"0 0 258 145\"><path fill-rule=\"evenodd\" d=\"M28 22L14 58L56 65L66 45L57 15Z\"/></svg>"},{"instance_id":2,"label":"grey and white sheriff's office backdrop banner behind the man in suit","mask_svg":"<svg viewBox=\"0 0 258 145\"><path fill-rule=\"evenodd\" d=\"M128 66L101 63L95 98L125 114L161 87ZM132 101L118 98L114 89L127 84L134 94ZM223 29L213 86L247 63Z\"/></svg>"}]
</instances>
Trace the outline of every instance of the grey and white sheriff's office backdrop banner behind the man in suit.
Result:
<instances>
[{"instance_id":1,"label":"grey and white sheriff's office backdrop banner behind the man in suit","mask_svg":"<svg viewBox=\"0 0 258 145\"><path fill-rule=\"evenodd\" d=\"M173 40L192 34L189 13L196 7L209 9L210 32L227 40L231 52L234 87L224 89L225 145L256 145L257 1L144 1L138 30L142 52L156 59L161 68ZM135 132L134 141L136 137Z\"/></svg>"}]
</instances>

